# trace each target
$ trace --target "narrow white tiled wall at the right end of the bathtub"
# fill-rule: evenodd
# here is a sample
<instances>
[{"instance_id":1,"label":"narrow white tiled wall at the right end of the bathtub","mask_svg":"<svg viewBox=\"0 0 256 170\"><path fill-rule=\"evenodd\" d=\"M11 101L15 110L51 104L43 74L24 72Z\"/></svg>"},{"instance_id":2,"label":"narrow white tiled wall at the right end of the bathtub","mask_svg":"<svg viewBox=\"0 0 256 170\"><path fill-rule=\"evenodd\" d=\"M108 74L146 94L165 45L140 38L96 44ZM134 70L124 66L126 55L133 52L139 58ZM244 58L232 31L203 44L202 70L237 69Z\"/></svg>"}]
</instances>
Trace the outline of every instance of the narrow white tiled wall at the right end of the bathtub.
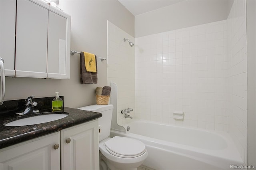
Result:
<instances>
[{"instance_id":1,"label":"narrow white tiled wall at the right end of the bathtub","mask_svg":"<svg viewBox=\"0 0 256 170\"><path fill-rule=\"evenodd\" d=\"M228 131L247 162L247 47L246 1L235 0L228 16L227 90Z\"/></svg>"}]
</instances>

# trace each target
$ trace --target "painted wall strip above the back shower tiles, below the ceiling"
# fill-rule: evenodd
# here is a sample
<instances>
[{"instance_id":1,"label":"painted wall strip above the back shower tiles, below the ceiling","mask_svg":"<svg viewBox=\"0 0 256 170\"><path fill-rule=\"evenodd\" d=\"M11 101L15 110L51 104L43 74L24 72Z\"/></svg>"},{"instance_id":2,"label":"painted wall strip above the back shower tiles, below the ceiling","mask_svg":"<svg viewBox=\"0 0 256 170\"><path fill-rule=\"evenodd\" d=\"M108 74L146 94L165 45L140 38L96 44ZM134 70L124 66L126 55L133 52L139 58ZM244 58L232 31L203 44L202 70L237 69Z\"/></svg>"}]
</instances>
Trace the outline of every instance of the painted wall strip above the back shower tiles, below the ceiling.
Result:
<instances>
[{"instance_id":1,"label":"painted wall strip above the back shower tiles, below the ceiling","mask_svg":"<svg viewBox=\"0 0 256 170\"><path fill-rule=\"evenodd\" d=\"M135 16L135 38L226 20L226 0L187 0Z\"/></svg>"}]
</instances>

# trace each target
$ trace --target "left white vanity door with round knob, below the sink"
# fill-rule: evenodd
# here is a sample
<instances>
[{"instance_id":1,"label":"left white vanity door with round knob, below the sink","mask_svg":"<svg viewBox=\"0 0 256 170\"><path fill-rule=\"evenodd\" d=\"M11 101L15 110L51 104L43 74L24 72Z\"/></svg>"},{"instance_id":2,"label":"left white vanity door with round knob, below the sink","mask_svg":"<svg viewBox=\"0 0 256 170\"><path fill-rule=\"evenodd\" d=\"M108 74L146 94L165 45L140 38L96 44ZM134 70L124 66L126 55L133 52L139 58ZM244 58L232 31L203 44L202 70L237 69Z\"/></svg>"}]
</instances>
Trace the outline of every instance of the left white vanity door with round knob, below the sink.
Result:
<instances>
[{"instance_id":1,"label":"left white vanity door with round knob, below the sink","mask_svg":"<svg viewBox=\"0 0 256 170\"><path fill-rule=\"evenodd\" d=\"M60 170L60 132L0 150L1 170Z\"/></svg>"}]
</instances>

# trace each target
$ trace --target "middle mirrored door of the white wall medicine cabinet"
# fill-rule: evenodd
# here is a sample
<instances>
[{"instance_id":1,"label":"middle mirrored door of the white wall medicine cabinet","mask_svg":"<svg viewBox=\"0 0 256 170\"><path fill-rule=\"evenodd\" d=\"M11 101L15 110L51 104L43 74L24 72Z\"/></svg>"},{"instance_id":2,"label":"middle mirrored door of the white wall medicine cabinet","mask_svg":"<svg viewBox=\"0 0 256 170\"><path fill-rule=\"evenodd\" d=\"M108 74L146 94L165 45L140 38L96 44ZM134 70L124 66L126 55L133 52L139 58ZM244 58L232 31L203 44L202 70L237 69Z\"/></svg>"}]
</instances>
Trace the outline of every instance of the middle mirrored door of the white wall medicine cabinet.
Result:
<instances>
[{"instance_id":1,"label":"middle mirrored door of the white wall medicine cabinet","mask_svg":"<svg viewBox=\"0 0 256 170\"><path fill-rule=\"evenodd\" d=\"M17 0L16 77L47 77L47 32L47 7Z\"/></svg>"}]
</instances>

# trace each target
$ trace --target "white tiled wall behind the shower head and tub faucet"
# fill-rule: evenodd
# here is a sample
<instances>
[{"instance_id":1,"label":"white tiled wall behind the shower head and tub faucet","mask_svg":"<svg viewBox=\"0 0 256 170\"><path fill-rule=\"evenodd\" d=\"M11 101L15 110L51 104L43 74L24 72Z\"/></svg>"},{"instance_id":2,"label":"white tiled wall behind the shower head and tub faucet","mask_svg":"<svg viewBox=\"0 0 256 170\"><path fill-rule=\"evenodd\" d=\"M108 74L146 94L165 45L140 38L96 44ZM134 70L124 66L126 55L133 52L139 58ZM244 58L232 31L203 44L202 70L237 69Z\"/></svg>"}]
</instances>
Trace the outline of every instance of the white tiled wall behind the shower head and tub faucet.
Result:
<instances>
[{"instance_id":1,"label":"white tiled wall behind the shower head and tub faucet","mask_svg":"<svg viewBox=\"0 0 256 170\"><path fill-rule=\"evenodd\" d=\"M125 119L121 110L135 107L134 47L124 42L124 38L134 42L134 38L108 21L108 85L113 81L118 86L117 119L118 125L124 125L131 119ZM134 117L135 111L129 113Z\"/></svg>"}]
</instances>

